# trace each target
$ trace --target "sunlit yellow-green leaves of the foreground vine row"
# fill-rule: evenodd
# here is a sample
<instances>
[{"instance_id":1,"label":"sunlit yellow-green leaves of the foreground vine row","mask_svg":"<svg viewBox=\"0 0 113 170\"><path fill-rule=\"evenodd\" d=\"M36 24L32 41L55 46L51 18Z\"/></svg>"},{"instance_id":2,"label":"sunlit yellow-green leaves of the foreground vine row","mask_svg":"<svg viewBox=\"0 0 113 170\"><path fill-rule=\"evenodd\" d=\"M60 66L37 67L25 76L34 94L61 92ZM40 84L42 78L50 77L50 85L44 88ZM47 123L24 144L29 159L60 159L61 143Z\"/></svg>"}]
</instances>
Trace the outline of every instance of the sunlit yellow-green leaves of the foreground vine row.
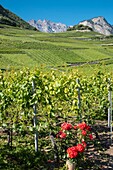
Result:
<instances>
[{"instance_id":1,"label":"sunlit yellow-green leaves of the foreground vine row","mask_svg":"<svg viewBox=\"0 0 113 170\"><path fill-rule=\"evenodd\" d=\"M34 104L37 106L38 130L48 127L49 131L60 118L68 120L69 116L76 116L79 121L81 115L88 123L107 118L108 90L113 84L112 77L101 71L87 77L77 71L43 73L38 69L26 69L1 72L0 78L0 126L11 126L18 133L33 131Z\"/></svg>"}]
</instances>

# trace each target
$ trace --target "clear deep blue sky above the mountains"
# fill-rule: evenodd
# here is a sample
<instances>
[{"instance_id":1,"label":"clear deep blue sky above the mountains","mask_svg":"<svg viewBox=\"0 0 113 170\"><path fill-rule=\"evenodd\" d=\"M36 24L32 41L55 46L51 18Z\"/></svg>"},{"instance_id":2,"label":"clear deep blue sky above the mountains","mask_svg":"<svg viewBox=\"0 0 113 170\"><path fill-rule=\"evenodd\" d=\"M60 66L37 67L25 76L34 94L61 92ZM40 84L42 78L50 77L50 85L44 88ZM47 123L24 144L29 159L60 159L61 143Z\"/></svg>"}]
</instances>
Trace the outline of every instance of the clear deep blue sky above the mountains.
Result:
<instances>
[{"instance_id":1,"label":"clear deep blue sky above the mountains","mask_svg":"<svg viewBox=\"0 0 113 170\"><path fill-rule=\"evenodd\" d=\"M113 25L113 0L0 0L25 21L47 19L66 25L103 16Z\"/></svg>"}]
</instances>

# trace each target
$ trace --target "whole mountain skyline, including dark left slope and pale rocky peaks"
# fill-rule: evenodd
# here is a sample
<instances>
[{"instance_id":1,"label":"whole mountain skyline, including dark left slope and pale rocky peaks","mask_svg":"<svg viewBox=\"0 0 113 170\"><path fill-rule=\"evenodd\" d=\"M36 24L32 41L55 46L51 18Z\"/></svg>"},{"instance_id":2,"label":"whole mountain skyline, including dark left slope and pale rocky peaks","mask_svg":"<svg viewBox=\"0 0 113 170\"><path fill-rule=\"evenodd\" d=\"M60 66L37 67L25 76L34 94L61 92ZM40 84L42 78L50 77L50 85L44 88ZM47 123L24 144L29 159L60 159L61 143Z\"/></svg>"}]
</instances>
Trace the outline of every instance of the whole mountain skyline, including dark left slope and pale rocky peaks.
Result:
<instances>
[{"instance_id":1,"label":"whole mountain skyline, including dark left slope and pale rocky peaks","mask_svg":"<svg viewBox=\"0 0 113 170\"><path fill-rule=\"evenodd\" d=\"M25 29L39 30L41 32L58 33L71 30L94 31L104 35L113 34L113 25L110 25L102 16L79 22L78 25L68 27L62 23L55 23L49 20L24 21L16 14L0 5L0 24L10 25ZM84 26L84 27L83 27Z\"/></svg>"}]
</instances>

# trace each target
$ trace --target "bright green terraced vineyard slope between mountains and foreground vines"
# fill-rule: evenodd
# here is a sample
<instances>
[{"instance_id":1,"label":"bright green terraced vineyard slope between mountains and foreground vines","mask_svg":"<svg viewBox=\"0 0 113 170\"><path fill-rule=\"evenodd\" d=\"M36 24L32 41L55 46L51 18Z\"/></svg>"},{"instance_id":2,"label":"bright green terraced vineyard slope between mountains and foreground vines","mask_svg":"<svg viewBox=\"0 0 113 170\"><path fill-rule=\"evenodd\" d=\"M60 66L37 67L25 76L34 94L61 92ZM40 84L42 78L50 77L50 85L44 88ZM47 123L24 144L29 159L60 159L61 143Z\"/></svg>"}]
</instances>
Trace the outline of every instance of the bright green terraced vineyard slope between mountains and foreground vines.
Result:
<instances>
[{"instance_id":1,"label":"bright green terraced vineyard slope between mountains and foreground vines","mask_svg":"<svg viewBox=\"0 0 113 170\"><path fill-rule=\"evenodd\" d=\"M94 32L48 34L10 26L0 27L0 68L76 66L93 70L94 65L112 70L113 36Z\"/></svg>"}]
</instances>

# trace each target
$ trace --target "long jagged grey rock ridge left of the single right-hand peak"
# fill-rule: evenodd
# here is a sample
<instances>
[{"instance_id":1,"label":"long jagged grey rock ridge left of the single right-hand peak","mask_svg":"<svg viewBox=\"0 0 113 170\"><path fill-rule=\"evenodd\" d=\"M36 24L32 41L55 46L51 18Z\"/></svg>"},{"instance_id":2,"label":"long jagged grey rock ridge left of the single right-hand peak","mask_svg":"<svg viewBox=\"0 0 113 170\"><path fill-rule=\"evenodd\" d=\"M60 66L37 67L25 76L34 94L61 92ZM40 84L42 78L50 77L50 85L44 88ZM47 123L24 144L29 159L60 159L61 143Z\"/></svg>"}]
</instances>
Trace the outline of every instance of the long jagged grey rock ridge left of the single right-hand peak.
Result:
<instances>
[{"instance_id":1,"label":"long jagged grey rock ridge left of the single right-hand peak","mask_svg":"<svg viewBox=\"0 0 113 170\"><path fill-rule=\"evenodd\" d=\"M65 24L55 23L49 20L30 20L28 23L41 32L58 33L67 31L67 26Z\"/></svg>"}]
</instances>

